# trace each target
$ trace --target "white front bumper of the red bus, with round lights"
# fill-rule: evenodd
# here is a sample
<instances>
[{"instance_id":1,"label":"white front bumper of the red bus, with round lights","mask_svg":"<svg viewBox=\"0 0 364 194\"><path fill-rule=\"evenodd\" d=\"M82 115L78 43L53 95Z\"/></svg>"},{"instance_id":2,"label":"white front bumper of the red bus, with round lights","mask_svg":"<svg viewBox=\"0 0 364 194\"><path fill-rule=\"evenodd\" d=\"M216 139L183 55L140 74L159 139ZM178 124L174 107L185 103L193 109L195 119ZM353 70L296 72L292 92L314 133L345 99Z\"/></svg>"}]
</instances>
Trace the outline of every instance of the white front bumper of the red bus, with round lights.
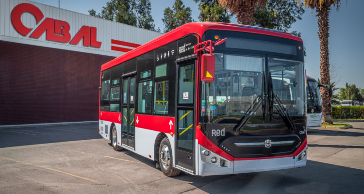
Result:
<instances>
[{"instance_id":1,"label":"white front bumper of the red bus, with round lights","mask_svg":"<svg viewBox=\"0 0 364 194\"><path fill-rule=\"evenodd\" d=\"M205 151L210 152L208 156L204 154ZM217 162L213 163L211 159L217 158ZM224 160L222 166L221 160ZM254 160L235 160L229 161L214 152L199 145L199 173L200 176L208 175L229 175L250 172L262 172L270 170L281 170L288 168L297 168L306 166L307 161L307 146L295 157L281 157L281 158L263 158Z\"/></svg>"}]
</instances>

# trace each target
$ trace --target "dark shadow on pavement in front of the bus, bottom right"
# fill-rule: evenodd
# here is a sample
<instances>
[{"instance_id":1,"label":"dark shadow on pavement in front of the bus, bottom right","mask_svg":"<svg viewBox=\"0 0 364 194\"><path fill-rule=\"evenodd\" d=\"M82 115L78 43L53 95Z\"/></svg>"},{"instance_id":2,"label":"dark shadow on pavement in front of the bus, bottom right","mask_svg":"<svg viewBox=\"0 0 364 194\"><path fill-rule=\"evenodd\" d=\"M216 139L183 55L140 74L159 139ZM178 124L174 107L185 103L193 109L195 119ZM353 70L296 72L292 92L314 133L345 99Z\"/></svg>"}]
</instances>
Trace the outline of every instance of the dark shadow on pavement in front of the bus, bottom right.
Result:
<instances>
[{"instance_id":1,"label":"dark shadow on pavement in front of the bus, bottom right","mask_svg":"<svg viewBox=\"0 0 364 194\"><path fill-rule=\"evenodd\" d=\"M364 170L308 161L306 167L220 176L173 177L210 194L289 193L330 194L363 193ZM196 191L196 193L199 193Z\"/></svg>"}]
</instances>

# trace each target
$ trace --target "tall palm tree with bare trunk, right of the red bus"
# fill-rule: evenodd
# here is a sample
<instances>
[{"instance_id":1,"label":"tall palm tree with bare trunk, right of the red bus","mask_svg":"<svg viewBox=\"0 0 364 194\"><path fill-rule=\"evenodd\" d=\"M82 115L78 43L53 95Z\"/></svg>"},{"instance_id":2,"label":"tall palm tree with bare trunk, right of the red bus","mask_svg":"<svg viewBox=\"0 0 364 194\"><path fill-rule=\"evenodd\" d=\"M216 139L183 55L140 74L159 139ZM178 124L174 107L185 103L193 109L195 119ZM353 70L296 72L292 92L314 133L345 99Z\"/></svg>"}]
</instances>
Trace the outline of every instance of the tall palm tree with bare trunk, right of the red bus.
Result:
<instances>
[{"instance_id":1,"label":"tall palm tree with bare trunk, right of the red bus","mask_svg":"<svg viewBox=\"0 0 364 194\"><path fill-rule=\"evenodd\" d=\"M330 85L330 64L329 64L329 15L331 6L338 11L340 9L340 0L297 0L303 3L305 7L312 10L316 9L318 17L318 39L320 39L320 78L321 83ZM322 123L332 124L331 121L331 98L328 89L321 90L322 97Z\"/></svg>"}]
</instances>

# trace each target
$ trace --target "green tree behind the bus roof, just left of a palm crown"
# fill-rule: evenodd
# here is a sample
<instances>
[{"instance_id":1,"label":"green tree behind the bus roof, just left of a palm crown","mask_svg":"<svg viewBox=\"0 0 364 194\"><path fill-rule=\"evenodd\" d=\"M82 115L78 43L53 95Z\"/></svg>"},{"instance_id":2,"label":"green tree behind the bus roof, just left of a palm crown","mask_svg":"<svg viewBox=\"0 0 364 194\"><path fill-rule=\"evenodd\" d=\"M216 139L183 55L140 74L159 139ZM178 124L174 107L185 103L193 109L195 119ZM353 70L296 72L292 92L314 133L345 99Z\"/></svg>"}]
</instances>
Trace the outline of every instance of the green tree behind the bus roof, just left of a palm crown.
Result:
<instances>
[{"instance_id":1,"label":"green tree behind the bus roof, just left of a palm crown","mask_svg":"<svg viewBox=\"0 0 364 194\"><path fill-rule=\"evenodd\" d=\"M217 0L194 0L199 3L199 20L230 23L231 13L218 3Z\"/></svg>"}]
</instances>

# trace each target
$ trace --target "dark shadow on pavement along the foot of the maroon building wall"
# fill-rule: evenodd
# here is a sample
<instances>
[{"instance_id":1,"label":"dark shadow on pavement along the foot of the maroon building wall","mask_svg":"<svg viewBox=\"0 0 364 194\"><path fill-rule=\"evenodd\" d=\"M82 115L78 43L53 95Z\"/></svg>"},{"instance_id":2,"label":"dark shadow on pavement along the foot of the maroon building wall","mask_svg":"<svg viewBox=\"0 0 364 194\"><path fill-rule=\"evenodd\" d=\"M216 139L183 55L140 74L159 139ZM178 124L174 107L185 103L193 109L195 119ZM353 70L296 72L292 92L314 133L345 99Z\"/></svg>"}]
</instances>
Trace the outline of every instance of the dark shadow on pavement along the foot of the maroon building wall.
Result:
<instances>
[{"instance_id":1,"label":"dark shadow on pavement along the foot of the maroon building wall","mask_svg":"<svg viewBox=\"0 0 364 194\"><path fill-rule=\"evenodd\" d=\"M0 128L0 148L100 138L98 123Z\"/></svg>"}]
</instances>

